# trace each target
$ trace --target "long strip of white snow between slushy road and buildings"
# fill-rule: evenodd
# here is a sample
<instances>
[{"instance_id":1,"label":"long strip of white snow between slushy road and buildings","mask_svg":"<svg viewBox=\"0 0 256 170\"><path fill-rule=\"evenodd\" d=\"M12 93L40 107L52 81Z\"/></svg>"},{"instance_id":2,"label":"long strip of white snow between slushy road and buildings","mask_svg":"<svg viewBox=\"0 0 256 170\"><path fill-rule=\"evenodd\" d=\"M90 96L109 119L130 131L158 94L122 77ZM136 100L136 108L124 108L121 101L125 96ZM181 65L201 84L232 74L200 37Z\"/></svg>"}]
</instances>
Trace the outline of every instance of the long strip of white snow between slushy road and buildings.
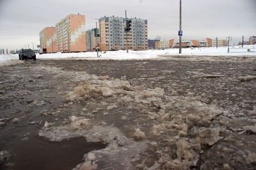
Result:
<instances>
[{"instance_id":1,"label":"long strip of white snow between slushy road and buildings","mask_svg":"<svg viewBox=\"0 0 256 170\"><path fill-rule=\"evenodd\" d=\"M250 53L246 50L250 48ZM234 49L234 50L232 50ZM234 53L232 53L234 52ZM164 56L256 56L255 45L244 45L230 47L230 53L228 53L228 47L219 48L184 48L182 53L179 54L179 49L164 49L164 50L142 50L134 51L118 50L114 52L99 52L97 57L96 52L81 52L81 53L52 53L52 54L36 54L37 59L160 59ZM18 54L0 55L0 65L8 62L12 59L18 60Z\"/></svg>"}]
</instances>

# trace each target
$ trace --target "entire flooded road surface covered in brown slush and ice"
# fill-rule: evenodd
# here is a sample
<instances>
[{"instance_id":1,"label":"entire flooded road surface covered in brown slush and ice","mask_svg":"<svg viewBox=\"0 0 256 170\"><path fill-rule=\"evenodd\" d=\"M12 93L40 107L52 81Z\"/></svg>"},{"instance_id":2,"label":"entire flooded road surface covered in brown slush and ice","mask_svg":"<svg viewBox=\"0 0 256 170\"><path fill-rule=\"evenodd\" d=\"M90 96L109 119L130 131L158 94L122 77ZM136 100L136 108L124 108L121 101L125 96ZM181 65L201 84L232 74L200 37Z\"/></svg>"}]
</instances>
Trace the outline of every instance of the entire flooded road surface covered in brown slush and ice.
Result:
<instances>
[{"instance_id":1,"label":"entire flooded road surface covered in brown slush and ice","mask_svg":"<svg viewBox=\"0 0 256 170\"><path fill-rule=\"evenodd\" d=\"M2 169L256 169L255 57L0 66Z\"/></svg>"}]
</instances>

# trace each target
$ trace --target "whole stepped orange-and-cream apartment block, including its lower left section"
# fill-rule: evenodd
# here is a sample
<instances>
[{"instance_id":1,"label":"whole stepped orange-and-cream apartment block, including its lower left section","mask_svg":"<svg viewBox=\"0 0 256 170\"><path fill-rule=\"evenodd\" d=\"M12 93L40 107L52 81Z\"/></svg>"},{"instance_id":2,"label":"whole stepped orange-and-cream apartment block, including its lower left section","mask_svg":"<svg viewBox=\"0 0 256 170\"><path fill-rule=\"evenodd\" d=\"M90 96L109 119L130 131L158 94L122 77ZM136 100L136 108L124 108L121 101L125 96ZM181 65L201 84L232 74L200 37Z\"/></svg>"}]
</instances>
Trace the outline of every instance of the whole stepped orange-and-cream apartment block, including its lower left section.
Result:
<instances>
[{"instance_id":1,"label":"whole stepped orange-and-cream apartment block, including its lower left section","mask_svg":"<svg viewBox=\"0 0 256 170\"><path fill-rule=\"evenodd\" d=\"M41 49L46 49L47 53L86 51L85 15L68 15L55 27L47 28L50 30L44 28L40 32Z\"/></svg>"}]
</instances>

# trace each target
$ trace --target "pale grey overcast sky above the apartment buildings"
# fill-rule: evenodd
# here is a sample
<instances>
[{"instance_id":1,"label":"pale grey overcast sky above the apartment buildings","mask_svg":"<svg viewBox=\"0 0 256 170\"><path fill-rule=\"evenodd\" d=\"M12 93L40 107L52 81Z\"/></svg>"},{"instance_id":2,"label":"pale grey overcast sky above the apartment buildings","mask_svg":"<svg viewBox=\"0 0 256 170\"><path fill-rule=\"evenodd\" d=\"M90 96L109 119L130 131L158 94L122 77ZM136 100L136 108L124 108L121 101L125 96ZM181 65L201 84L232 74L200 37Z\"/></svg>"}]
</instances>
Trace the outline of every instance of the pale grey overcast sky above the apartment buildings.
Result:
<instances>
[{"instance_id":1,"label":"pale grey overcast sky above the apartment buildings","mask_svg":"<svg viewBox=\"0 0 256 170\"><path fill-rule=\"evenodd\" d=\"M0 0L0 48L39 44L39 32L69 14L85 15L86 30L102 16L148 20L148 39L179 39L179 0ZM256 35L256 0L182 0L183 39L249 41Z\"/></svg>"}]
</instances>

